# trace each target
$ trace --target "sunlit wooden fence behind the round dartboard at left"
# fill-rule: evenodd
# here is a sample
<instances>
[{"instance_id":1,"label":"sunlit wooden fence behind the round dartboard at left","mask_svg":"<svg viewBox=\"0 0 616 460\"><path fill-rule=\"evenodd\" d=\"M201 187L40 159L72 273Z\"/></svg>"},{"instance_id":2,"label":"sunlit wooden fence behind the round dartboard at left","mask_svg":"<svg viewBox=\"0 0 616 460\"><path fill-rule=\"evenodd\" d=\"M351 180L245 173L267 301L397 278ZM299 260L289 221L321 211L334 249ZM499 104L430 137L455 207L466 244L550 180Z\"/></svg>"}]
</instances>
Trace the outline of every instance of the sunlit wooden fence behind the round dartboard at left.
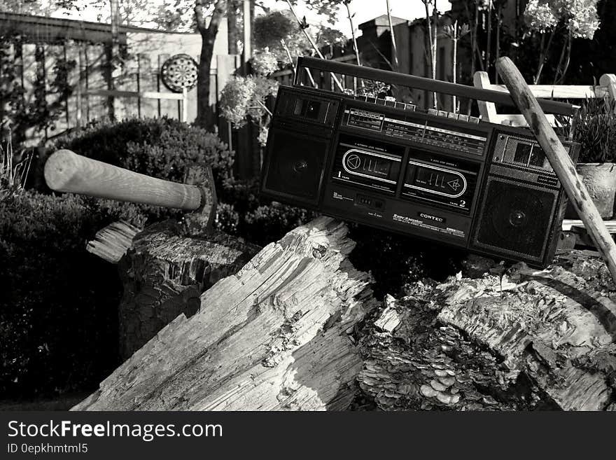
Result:
<instances>
[{"instance_id":1,"label":"sunlit wooden fence behind the round dartboard at left","mask_svg":"<svg viewBox=\"0 0 616 460\"><path fill-rule=\"evenodd\" d=\"M0 69L0 84L11 84L6 78L10 71L15 88L24 90L25 104L43 100L55 115L48 126L25 132L27 144L40 144L97 119L167 116L195 120L196 88L186 94L169 91L160 69L176 48L177 53L190 54L198 61L200 37L130 27L121 32L123 53L111 60L111 34L106 25L0 13L0 35L5 39L0 45L5 60L12 63L10 69ZM169 43L172 40L182 46L174 47ZM218 94L239 66L239 57L218 54L213 64L210 104L216 110ZM0 118L7 104L0 102Z\"/></svg>"}]
</instances>

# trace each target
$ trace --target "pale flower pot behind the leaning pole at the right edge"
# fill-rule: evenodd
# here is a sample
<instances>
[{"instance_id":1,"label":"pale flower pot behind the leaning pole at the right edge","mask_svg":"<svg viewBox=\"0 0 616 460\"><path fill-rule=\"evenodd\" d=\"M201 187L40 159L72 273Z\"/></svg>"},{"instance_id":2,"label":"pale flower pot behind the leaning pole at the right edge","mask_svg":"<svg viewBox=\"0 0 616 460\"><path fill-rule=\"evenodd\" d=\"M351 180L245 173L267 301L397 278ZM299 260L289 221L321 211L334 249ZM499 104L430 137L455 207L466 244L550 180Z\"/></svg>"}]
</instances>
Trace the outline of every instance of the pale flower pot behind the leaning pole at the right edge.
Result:
<instances>
[{"instance_id":1,"label":"pale flower pot behind the leaning pole at the right edge","mask_svg":"<svg viewBox=\"0 0 616 460\"><path fill-rule=\"evenodd\" d=\"M586 186L601 217L604 219L612 217L616 193L616 164L578 163L575 169L582 178L582 183ZM565 218L579 218L570 202L565 211Z\"/></svg>"}]
</instances>

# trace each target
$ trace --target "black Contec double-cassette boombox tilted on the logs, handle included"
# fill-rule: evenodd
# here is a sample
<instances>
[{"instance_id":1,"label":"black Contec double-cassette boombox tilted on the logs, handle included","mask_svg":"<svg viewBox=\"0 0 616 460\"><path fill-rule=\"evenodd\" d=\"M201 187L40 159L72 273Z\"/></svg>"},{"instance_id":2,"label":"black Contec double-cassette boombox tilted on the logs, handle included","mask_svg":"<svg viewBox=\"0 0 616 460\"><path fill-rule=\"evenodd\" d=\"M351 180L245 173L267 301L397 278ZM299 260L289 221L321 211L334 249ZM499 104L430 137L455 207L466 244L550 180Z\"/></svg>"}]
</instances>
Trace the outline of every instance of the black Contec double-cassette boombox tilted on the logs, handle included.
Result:
<instances>
[{"instance_id":1,"label":"black Contec double-cassette boombox tilted on the logs, handle included","mask_svg":"<svg viewBox=\"0 0 616 460\"><path fill-rule=\"evenodd\" d=\"M307 67L512 105L505 92L312 58L297 74ZM262 195L486 256L552 262L566 195L529 130L298 82L279 88ZM579 145L564 145L575 162Z\"/></svg>"}]
</instances>

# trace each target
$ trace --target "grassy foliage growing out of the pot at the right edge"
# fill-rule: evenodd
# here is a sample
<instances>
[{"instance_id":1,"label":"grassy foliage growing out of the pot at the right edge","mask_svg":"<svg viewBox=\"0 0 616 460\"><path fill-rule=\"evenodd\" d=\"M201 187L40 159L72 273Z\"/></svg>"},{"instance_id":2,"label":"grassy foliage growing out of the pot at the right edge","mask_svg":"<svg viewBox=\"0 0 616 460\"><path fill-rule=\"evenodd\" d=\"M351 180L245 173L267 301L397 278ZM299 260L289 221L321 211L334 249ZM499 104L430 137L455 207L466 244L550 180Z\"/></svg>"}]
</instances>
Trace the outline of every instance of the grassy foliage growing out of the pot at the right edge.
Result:
<instances>
[{"instance_id":1,"label":"grassy foliage growing out of the pot at the right edge","mask_svg":"<svg viewBox=\"0 0 616 460\"><path fill-rule=\"evenodd\" d=\"M587 99L575 119L574 139L580 142L578 162L614 162L616 158L616 101Z\"/></svg>"}]
</instances>

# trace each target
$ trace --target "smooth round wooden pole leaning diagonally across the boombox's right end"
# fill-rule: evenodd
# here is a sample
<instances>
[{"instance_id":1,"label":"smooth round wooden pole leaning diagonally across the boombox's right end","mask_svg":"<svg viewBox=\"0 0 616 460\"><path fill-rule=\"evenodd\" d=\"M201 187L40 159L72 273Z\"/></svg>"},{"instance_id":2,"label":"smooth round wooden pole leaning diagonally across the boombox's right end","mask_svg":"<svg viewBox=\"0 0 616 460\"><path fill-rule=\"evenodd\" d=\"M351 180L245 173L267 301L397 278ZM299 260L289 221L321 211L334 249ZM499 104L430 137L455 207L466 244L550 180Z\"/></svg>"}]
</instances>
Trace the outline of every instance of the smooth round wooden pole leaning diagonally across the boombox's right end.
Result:
<instances>
[{"instance_id":1,"label":"smooth round wooden pole leaning diagonally across the boombox's right end","mask_svg":"<svg viewBox=\"0 0 616 460\"><path fill-rule=\"evenodd\" d=\"M582 218L584 227L589 232L598 252L608 266L612 280L616 282L616 244L605 227L596 206L592 202L588 190L575 172L575 166L567 155L563 144L549 125L545 113L541 110L537 99L521 76L520 71L508 57L496 61L498 74L503 78L517 108L526 118L528 127L537 138L541 148L552 165L556 176L560 179L566 193Z\"/></svg>"}]
</instances>

